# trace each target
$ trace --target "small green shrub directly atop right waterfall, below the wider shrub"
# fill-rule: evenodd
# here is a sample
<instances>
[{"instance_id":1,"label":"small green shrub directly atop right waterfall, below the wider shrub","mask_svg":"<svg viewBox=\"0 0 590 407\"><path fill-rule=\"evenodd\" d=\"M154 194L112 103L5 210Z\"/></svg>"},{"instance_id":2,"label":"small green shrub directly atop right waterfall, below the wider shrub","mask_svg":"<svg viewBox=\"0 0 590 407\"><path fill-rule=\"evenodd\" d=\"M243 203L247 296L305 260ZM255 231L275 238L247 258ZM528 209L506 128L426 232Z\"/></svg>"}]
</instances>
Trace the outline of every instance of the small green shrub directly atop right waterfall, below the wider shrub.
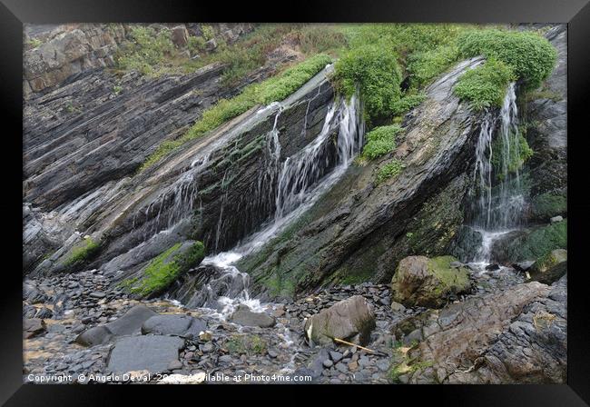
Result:
<instances>
[{"instance_id":1,"label":"small green shrub directly atop right waterfall, below the wider shrub","mask_svg":"<svg viewBox=\"0 0 590 407\"><path fill-rule=\"evenodd\" d=\"M507 84L514 80L512 70L494 59L488 59L462 74L454 92L462 100L467 100L476 110L486 107L500 106L506 94Z\"/></svg>"}]
</instances>

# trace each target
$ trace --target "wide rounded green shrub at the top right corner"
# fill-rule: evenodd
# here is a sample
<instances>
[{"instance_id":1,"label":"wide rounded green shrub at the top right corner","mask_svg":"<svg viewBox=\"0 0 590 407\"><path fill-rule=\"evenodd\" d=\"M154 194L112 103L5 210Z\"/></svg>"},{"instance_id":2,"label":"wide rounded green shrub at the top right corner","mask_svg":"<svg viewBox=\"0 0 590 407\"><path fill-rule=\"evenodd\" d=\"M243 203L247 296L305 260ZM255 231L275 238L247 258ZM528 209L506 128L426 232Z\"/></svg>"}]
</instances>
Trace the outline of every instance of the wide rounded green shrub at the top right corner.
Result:
<instances>
[{"instance_id":1,"label":"wide rounded green shrub at the top right corner","mask_svg":"<svg viewBox=\"0 0 590 407\"><path fill-rule=\"evenodd\" d=\"M457 45L464 56L484 55L503 62L529 89L538 87L556 64L553 45L530 31L472 31L459 35Z\"/></svg>"}]
</instances>

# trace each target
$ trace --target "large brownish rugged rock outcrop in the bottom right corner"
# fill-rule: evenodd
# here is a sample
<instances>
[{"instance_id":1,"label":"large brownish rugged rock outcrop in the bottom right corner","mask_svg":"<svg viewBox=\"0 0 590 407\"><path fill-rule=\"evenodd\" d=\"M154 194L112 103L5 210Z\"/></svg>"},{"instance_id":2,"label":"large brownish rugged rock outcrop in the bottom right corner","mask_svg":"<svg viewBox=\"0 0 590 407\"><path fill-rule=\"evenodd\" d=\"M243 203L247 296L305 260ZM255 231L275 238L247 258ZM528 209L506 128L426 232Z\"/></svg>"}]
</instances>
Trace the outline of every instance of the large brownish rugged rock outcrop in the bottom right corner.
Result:
<instances>
[{"instance_id":1,"label":"large brownish rugged rock outcrop in the bottom right corner","mask_svg":"<svg viewBox=\"0 0 590 407\"><path fill-rule=\"evenodd\" d=\"M535 313L538 313L537 325L541 321L539 318L555 321L556 316L542 316L540 311L548 304L556 313L558 308L565 307L565 296L560 295L563 290L564 287L553 290L536 282L518 284L503 292L472 297L464 303L453 303L440 311L430 311L398 323L398 333L406 333L418 342L408 351L408 360L413 362L400 381L515 382L516 376L524 377L526 373L520 374L527 371L537 375L531 382L553 382L556 372L539 372L543 369L532 361L561 358L564 352L555 352L552 356L555 349L551 348L565 349L565 317L561 316L561 322L552 328L556 330L552 335L530 334L535 330ZM563 315L563 308L559 315ZM505 363L512 365L515 372L506 372ZM554 368L556 365L557 371L565 368L561 362L554 363ZM515 374L512 379L511 374ZM539 374L544 376L542 380Z\"/></svg>"}]
</instances>

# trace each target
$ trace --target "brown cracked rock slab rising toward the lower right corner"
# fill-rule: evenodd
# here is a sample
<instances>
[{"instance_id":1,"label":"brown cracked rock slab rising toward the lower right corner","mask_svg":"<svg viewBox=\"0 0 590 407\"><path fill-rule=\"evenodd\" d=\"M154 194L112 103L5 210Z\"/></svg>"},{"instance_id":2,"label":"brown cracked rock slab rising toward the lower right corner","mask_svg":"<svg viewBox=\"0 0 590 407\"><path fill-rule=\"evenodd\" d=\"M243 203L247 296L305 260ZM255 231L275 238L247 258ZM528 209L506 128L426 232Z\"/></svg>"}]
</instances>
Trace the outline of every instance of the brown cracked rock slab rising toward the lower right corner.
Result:
<instances>
[{"instance_id":1,"label":"brown cracked rock slab rising toward the lower right corner","mask_svg":"<svg viewBox=\"0 0 590 407\"><path fill-rule=\"evenodd\" d=\"M539 337L544 333L539 329L540 323L537 323L535 327L533 317L526 316L526 314L534 314L530 311L527 312L530 309L529 304L546 302L549 292L550 288L545 284L536 282L518 284L505 292L472 297L464 303L453 303L440 311L430 310L415 318L416 321L398 324L398 329L402 331L408 331L412 325L418 325L418 328L404 339L406 341L411 338L418 341L418 345L412 347L407 356L409 361L413 361L413 368L404 375L405 377L400 377L400 380L418 384L511 382L510 380L497 380L498 377L506 379L506 376L510 376L509 373L499 372L498 369L506 369L503 366L508 360L506 354L510 354L510 352L504 351L512 349L512 352L516 352L516 343L523 347L523 350L519 351L521 357L517 357L517 355L511 355L511 357L522 363L519 364L513 360L510 362L513 366L519 366L520 371L530 373L530 369L526 366L529 368L534 366L529 361L534 360L535 357L525 358L522 354L528 353L532 356L535 353L540 355L539 358L543 358L545 352L539 352L541 348L539 343L552 342L552 339L538 340L538 343L527 342L530 340L531 336L529 335L532 332L538 332L537 336ZM563 301L562 298L561 302ZM552 315L555 315L554 313L557 314L554 311ZM545 313L538 313L538 315L551 322L558 320L555 316L547 317ZM538 315L537 319L540 318ZM514 340L514 335L511 336L510 333L515 332L519 326L517 321L523 318L530 320L527 324L530 332L517 335ZM516 323L513 323L515 321ZM545 322L543 318L540 318L539 321ZM554 323L552 326L556 327L558 323ZM506 337L506 342L494 344L498 340L498 335L499 338ZM554 342L557 337L559 335L554 335ZM561 342L562 339L560 337L557 342ZM482 357L494 347L498 348L494 353L495 359ZM503 356L499 358L497 354ZM504 358L504 363L499 362L502 358ZM479 371L482 363L487 366L488 372ZM490 370L492 372L489 372ZM519 374L523 375L522 372ZM539 382L545 381L546 378Z\"/></svg>"}]
</instances>

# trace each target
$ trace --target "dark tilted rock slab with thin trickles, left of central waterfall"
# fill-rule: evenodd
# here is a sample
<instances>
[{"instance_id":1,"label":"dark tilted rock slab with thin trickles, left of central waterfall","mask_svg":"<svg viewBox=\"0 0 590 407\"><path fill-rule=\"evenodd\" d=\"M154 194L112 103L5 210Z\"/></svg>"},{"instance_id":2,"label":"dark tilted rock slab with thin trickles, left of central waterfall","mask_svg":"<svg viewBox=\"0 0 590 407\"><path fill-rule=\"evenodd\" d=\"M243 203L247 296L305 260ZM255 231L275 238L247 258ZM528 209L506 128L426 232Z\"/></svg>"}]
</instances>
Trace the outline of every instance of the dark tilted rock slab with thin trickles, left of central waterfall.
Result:
<instances>
[{"instance_id":1,"label":"dark tilted rock slab with thin trickles, left of central waterfall","mask_svg":"<svg viewBox=\"0 0 590 407\"><path fill-rule=\"evenodd\" d=\"M75 234L74 228L87 231L95 241L101 242L101 253L93 261L97 267L123 256L106 266L113 273L123 270L120 267L124 264L133 268L149 260L153 253L162 253L171 243L183 240L196 238L205 244L209 253L231 247L274 213L277 174L270 174L270 169L278 170L287 157L300 151L320 133L333 99L333 90L325 74L317 75L284 101L280 114L279 105L258 111L252 109L211 134L183 145L143 173L95 186L92 191L59 207L51 223L47 221L45 230L52 230L55 224L61 226L56 227L62 233L60 239L55 239L61 240L61 245L35 273L53 270L60 259L68 256L82 237ZM215 80L212 83L216 83ZM217 94L217 97L223 95ZM174 99L172 94L164 99L168 100L167 97ZM163 100L158 105L162 103ZM156 111L153 114L158 116ZM187 113L181 110L178 114ZM280 130L279 157L267 148L275 119L276 128ZM131 154L127 158L132 159L133 150L124 154ZM276 163L271 165L271 160ZM85 159L82 163L90 162L92 160ZM117 168L116 174L120 171L121 168ZM95 174L89 171L88 176L92 178ZM71 179L65 182L74 183ZM74 184L79 183L84 184L84 181L76 179ZM61 187L59 190L63 191ZM234 216L235 213L243 215ZM68 235L64 230L71 232ZM163 230L167 232L159 233ZM141 248L131 253L140 243L143 243ZM130 273L133 271L136 269Z\"/></svg>"}]
</instances>

